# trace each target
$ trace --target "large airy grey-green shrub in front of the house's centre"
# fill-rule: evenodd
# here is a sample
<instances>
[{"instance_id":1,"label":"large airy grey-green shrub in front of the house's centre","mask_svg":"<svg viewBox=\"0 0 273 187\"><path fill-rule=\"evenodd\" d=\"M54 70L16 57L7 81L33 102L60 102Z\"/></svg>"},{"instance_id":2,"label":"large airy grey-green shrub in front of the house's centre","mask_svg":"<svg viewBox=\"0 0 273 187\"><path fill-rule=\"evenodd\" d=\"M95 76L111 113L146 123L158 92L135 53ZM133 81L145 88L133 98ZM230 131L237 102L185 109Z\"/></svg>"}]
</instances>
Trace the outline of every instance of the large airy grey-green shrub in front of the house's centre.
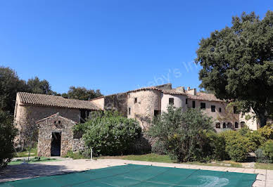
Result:
<instances>
[{"instance_id":1,"label":"large airy grey-green shrub in front of the house's centre","mask_svg":"<svg viewBox=\"0 0 273 187\"><path fill-rule=\"evenodd\" d=\"M203 161L209 155L208 130L212 130L212 121L200 109L182 112L169 105L167 112L153 119L148 134L160 141L173 160L188 162Z\"/></svg>"}]
</instances>

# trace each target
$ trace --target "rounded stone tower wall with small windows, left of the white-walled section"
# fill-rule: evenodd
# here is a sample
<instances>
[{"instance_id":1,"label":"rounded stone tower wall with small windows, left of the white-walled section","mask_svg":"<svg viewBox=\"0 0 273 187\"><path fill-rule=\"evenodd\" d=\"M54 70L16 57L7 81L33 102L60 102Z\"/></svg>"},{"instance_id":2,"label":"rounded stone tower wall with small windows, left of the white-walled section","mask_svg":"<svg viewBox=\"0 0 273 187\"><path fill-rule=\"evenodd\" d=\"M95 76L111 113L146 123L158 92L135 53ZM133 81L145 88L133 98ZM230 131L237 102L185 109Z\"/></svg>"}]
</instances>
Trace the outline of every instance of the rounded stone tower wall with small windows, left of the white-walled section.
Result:
<instances>
[{"instance_id":1,"label":"rounded stone tower wall with small windows, left of the white-walled section","mask_svg":"<svg viewBox=\"0 0 273 187\"><path fill-rule=\"evenodd\" d=\"M136 102L135 99L137 100ZM161 110L160 99L161 92L158 90L144 90L128 93L127 117L136 118L142 129L148 129L148 122L153 119L155 110Z\"/></svg>"}]
</instances>

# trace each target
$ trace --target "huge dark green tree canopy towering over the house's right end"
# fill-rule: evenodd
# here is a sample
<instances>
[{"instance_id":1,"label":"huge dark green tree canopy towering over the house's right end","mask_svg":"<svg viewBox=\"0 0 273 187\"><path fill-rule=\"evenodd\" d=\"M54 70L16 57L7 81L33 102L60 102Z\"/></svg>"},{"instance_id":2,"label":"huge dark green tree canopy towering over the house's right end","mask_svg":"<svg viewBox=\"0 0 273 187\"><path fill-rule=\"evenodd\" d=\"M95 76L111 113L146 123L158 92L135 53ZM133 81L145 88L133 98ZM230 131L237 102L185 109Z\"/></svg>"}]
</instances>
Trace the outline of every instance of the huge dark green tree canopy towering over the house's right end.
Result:
<instances>
[{"instance_id":1,"label":"huge dark green tree canopy towering over the house's right end","mask_svg":"<svg viewBox=\"0 0 273 187\"><path fill-rule=\"evenodd\" d=\"M215 30L201 39L196 63L201 88L217 98L240 101L245 111L253 108L260 125L272 114L273 12L262 20L255 13L232 18L231 27Z\"/></svg>"}]
</instances>

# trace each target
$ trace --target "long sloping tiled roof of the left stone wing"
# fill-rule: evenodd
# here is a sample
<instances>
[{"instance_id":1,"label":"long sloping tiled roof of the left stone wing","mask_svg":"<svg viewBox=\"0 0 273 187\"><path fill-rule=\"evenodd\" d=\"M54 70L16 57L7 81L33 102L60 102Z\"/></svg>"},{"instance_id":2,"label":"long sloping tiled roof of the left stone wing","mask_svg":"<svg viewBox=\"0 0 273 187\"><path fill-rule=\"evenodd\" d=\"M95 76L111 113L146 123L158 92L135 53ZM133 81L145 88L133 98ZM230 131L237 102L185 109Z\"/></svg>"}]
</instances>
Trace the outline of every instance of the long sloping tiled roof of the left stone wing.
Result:
<instances>
[{"instance_id":1,"label":"long sloping tiled roof of the left stone wing","mask_svg":"<svg viewBox=\"0 0 273 187\"><path fill-rule=\"evenodd\" d=\"M43 105L62 108L75 108L87 110L100 110L91 101L63 98L62 96L51 96L39 93L18 92L20 102L26 105Z\"/></svg>"}]
</instances>

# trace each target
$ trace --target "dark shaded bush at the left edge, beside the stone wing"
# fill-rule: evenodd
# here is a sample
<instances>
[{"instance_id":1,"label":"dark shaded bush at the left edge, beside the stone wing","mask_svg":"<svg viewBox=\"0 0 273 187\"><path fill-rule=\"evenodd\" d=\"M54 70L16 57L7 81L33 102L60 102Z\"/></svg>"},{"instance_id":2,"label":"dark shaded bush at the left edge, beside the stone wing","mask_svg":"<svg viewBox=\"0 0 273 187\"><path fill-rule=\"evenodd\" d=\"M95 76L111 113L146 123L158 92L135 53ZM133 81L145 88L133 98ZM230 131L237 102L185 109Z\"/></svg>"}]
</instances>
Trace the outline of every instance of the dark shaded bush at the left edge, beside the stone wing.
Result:
<instances>
[{"instance_id":1,"label":"dark shaded bush at the left edge, beside the stone wing","mask_svg":"<svg viewBox=\"0 0 273 187\"><path fill-rule=\"evenodd\" d=\"M0 110L0 168L11 162L15 153L13 144L16 134L11 115Z\"/></svg>"}]
</instances>

